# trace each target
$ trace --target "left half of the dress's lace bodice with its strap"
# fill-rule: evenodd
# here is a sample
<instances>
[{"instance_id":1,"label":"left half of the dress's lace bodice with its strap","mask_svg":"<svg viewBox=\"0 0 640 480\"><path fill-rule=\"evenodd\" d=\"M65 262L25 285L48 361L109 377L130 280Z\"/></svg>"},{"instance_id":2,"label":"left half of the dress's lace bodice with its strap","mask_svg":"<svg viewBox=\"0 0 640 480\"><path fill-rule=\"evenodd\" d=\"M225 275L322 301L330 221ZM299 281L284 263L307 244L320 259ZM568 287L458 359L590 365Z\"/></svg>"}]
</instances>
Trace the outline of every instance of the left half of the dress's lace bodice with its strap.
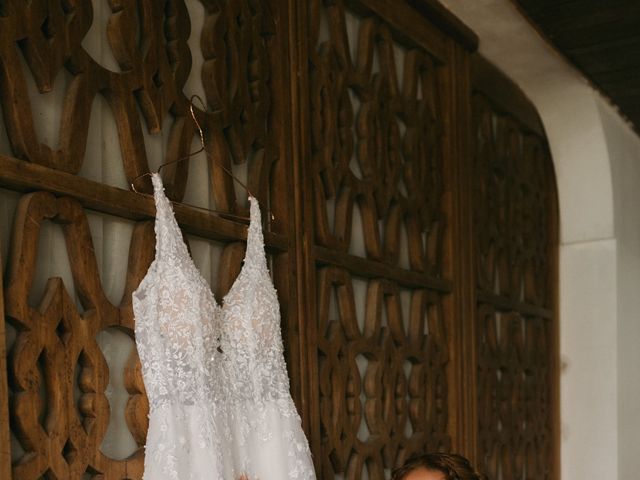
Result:
<instances>
[{"instance_id":1,"label":"left half of the dress's lace bodice with its strap","mask_svg":"<svg viewBox=\"0 0 640 480\"><path fill-rule=\"evenodd\" d=\"M211 402L212 347L220 308L196 269L158 175L156 256L133 294L135 333L151 411Z\"/></svg>"}]
</instances>

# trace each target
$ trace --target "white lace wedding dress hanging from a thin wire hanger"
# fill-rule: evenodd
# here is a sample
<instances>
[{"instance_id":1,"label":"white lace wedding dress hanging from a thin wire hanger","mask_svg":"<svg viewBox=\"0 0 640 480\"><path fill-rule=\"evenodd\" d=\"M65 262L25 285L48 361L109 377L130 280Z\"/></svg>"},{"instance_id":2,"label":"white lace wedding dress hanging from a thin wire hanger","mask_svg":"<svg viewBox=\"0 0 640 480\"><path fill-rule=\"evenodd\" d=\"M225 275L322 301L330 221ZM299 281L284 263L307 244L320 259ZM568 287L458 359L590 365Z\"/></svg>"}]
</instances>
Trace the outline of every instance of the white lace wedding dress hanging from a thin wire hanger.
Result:
<instances>
[{"instance_id":1,"label":"white lace wedding dress hanging from a thin wire hanger","mask_svg":"<svg viewBox=\"0 0 640 480\"><path fill-rule=\"evenodd\" d=\"M150 405L144 480L315 479L289 393L257 200L242 270L219 306L160 176L152 181L156 256L133 293Z\"/></svg>"}]
</instances>

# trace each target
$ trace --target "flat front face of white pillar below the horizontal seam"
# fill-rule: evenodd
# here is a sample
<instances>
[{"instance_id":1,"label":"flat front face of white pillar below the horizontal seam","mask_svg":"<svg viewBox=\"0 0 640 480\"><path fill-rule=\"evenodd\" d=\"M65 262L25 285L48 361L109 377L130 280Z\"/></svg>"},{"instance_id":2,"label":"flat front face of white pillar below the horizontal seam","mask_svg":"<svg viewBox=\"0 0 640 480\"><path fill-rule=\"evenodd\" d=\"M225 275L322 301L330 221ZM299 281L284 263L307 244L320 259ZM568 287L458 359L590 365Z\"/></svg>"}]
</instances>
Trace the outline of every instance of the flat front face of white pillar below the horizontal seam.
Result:
<instances>
[{"instance_id":1,"label":"flat front face of white pillar below the horizontal seam","mask_svg":"<svg viewBox=\"0 0 640 480\"><path fill-rule=\"evenodd\" d=\"M561 478L618 477L616 241L560 247Z\"/></svg>"}]
</instances>

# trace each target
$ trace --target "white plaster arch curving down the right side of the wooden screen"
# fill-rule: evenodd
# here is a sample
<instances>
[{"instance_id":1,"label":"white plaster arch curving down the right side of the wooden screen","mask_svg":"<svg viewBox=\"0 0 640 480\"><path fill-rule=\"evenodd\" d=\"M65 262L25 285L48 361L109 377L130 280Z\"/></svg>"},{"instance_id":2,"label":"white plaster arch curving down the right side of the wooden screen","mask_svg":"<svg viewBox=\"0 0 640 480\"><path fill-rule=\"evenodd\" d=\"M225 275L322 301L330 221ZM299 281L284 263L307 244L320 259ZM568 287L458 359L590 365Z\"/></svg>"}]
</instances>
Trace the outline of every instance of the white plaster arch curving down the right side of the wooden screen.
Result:
<instances>
[{"instance_id":1,"label":"white plaster arch curving down the right side of the wooden screen","mask_svg":"<svg viewBox=\"0 0 640 480\"><path fill-rule=\"evenodd\" d=\"M549 139L560 204L562 479L635 480L640 139L511 1L441 1L532 100Z\"/></svg>"}]
</instances>

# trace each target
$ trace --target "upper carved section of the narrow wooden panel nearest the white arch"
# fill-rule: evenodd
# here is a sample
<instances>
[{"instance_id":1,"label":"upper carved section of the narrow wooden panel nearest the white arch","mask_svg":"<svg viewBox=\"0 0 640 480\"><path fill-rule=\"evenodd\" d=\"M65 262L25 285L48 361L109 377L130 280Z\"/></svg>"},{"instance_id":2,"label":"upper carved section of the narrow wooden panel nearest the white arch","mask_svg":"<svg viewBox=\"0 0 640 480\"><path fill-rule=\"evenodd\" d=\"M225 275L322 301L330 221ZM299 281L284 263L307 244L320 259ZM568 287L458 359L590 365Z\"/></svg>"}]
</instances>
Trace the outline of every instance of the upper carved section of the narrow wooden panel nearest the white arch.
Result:
<instances>
[{"instance_id":1,"label":"upper carved section of the narrow wooden panel nearest the white arch","mask_svg":"<svg viewBox=\"0 0 640 480\"><path fill-rule=\"evenodd\" d=\"M544 140L474 98L478 288L549 307L550 158Z\"/></svg>"}]
</instances>

